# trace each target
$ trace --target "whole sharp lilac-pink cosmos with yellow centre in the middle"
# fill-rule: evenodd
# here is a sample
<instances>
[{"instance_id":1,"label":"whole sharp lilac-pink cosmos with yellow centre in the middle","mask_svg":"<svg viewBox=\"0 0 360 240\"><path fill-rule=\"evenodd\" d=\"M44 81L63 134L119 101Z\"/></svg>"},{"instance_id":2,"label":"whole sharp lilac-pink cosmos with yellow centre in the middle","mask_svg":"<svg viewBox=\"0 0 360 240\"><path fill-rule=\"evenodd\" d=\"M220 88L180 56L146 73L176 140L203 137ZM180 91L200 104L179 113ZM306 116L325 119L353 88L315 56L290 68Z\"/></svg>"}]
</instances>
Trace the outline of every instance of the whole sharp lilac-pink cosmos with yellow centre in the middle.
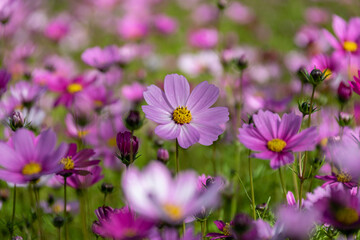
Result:
<instances>
[{"instance_id":1,"label":"whole sharp lilac-pink cosmos with yellow centre in the middle","mask_svg":"<svg viewBox=\"0 0 360 240\"><path fill-rule=\"evenodd\" d=\"M210 108L219 96L216 86L202 82L190 94L186 78L171 74L165 77L164 90L149 86L144 92L149 105L142 106L146 118L160 124L155 128L158 136L176 138L188 148L197 142L209 146L224 132L220 125L229 120L228 109Z\"/></svg>"}]
</instances>

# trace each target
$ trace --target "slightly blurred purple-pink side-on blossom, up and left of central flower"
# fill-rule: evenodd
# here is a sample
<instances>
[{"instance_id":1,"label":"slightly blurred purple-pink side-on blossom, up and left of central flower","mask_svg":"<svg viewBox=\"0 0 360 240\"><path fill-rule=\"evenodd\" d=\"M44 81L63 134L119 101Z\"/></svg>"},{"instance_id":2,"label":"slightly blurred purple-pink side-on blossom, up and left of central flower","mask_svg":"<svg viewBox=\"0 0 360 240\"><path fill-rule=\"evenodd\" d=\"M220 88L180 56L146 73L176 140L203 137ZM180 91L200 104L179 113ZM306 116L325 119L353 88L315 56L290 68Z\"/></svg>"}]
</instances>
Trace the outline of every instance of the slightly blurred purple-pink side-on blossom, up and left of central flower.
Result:
<instances>
[{"instance_id":1,"label":"slightly blurred purple-pink side-on blossom, up and left of central flower","mask_svg":"<svg viewBox=\"0 0 360 240\"><path fill-rule=\"evenodd\" d=\"M88 48L81 54L81 59L87 65L105 72L111 65L119 61L119 48L115 45L107 46L104 49Z\"/></svg>"}]
</instances>

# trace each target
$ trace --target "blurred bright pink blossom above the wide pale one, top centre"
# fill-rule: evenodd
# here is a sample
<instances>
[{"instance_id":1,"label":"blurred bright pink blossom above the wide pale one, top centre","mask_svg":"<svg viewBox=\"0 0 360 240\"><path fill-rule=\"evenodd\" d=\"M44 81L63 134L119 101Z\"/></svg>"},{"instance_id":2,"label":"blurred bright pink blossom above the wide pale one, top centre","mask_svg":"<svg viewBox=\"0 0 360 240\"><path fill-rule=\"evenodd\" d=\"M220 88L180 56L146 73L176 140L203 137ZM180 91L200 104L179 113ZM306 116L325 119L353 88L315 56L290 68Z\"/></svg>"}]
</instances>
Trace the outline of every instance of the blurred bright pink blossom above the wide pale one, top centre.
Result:
<instances>
[{"instance_id":1,"label":"blurred bright pink blossom above the wide pale one, top centre","mask_svg":"<svg viewBox=\"0 0 360 240\"><path fill-rule=\"evenodd\" d=\"M190 34L189 42L192 46L201 49L214 48L218 43L218 32L215 29L199 29Z\"/></svg>"}]
</instances>

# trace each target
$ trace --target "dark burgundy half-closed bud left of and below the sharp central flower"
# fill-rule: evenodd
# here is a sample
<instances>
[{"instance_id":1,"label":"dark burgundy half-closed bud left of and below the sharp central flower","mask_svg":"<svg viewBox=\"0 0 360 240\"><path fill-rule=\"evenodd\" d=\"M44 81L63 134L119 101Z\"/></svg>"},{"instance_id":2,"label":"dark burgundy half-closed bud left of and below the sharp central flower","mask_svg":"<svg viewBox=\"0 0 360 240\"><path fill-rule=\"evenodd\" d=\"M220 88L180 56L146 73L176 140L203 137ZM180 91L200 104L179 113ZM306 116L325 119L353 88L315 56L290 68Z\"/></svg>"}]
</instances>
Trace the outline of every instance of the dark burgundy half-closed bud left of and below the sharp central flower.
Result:
<instances>
[{"instance_id":1,"label":"dark burgundy half-closed bud left of and below the sharp central flower","mask_svg":"<svg viewBox=\"0 0 360 240\"><path fill-rule=\"evenodd\" d=\"M116 144L119 149L117 157L126 165L131 164L131 158L136 159L139 149L139 140L128 131L119 132L116 136ZM132 154L132 156L131 156Z\"/></svg>"}]
</instances>

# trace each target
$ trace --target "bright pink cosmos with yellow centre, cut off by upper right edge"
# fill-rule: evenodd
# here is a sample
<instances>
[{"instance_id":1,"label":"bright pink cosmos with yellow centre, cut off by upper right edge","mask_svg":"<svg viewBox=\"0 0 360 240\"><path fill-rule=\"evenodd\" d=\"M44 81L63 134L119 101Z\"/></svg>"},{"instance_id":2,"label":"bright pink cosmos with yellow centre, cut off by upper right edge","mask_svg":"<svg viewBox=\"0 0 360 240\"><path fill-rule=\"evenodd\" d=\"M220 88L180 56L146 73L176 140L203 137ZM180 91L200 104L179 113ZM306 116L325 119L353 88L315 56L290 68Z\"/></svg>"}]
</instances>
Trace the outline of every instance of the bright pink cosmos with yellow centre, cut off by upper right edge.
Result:
<instances>
[{"instance_id":1,"label":"bright pink cosmos with yellow centre, cut off by upper right edge","mask_svg":"<svg viewBox=\"0 0 360 240\"><path fill-rule=\"evenodd\" d=\"M337 39L328 31L323 33L335 49L338 56L344 57L347 53L352 56L359 56L360 54L360 18L351 18L347 23L341 17L334 15L332 27Z\"/></svg>"}]
</instances>

